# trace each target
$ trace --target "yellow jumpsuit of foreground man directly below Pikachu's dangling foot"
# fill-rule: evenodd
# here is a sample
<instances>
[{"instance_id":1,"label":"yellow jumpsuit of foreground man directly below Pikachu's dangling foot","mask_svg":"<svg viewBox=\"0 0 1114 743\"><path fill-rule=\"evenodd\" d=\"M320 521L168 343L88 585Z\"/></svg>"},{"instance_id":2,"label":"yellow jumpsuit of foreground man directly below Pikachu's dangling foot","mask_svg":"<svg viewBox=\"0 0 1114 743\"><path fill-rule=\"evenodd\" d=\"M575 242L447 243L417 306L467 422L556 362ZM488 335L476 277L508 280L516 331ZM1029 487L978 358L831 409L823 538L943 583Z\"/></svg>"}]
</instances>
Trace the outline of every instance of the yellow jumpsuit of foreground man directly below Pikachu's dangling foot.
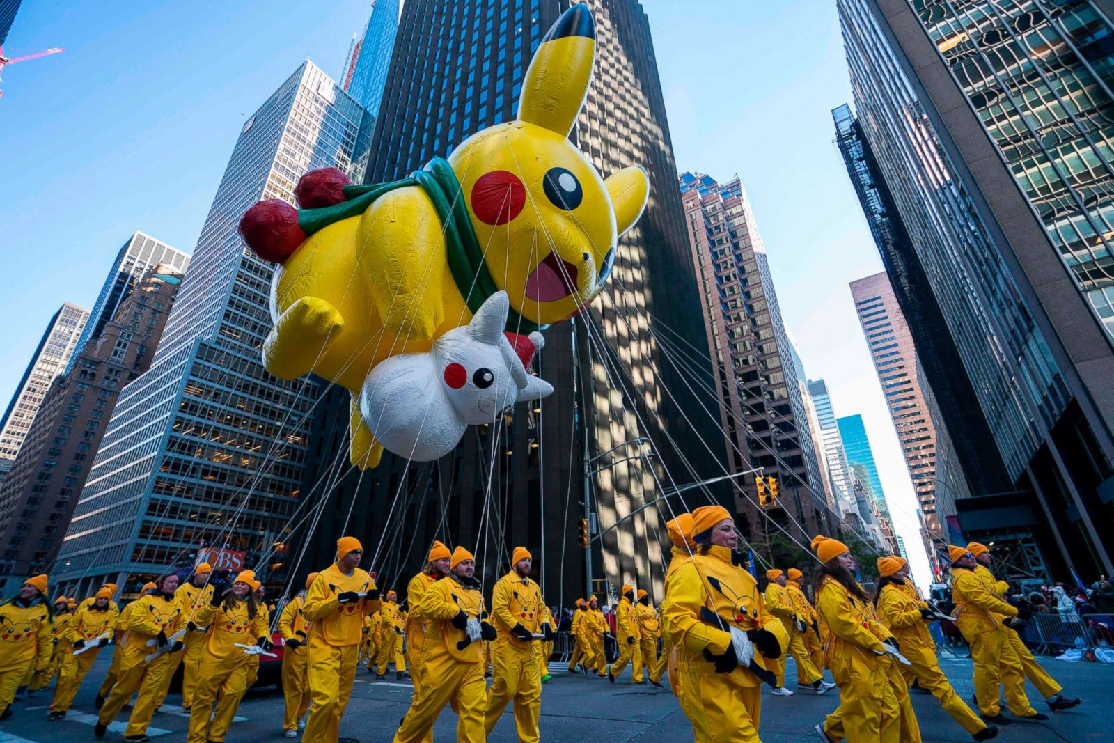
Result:
<instances>
[{"instance_id":1,"label":"yellow jumpsuit of foreground man directly below Pikachu's dangling foot","mask_svg":"<svg viewBox=\"0 0 1114 743\"><path fill-rule=\"evenodd\" d=\"M334 563L310 584L302 614L310 622L310 720L302 740L336 743L338 731L355 681L363 616L380 607L380 599L341 604L338 595L375 588L367 570L344 575Z\"/></svg>"}]
</instances>

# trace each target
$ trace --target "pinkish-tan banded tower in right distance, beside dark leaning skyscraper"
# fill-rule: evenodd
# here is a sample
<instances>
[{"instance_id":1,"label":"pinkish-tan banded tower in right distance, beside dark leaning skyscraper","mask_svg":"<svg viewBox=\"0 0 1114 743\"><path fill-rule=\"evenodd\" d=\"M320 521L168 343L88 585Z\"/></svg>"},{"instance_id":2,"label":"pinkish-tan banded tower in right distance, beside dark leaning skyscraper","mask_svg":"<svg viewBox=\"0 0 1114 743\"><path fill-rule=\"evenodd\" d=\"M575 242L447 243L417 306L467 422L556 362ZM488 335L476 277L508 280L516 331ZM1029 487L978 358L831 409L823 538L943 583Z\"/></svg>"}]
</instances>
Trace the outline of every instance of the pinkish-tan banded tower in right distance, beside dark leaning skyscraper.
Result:
<instances>
[{"instance_id":1,"label":"pinkish-tan banded tower in right distance, beside dark leaning skyscraper","mask_svg":"<svg viewBox=\"0 0 1114 743\"><path fill-rule=\"evenodd\" d=\"M936 427L921 391L912 334L886 273L851 282L851 299L912 478L921 526L939 539L942 531L936 512Z\"/></svg>"}]
</instances>

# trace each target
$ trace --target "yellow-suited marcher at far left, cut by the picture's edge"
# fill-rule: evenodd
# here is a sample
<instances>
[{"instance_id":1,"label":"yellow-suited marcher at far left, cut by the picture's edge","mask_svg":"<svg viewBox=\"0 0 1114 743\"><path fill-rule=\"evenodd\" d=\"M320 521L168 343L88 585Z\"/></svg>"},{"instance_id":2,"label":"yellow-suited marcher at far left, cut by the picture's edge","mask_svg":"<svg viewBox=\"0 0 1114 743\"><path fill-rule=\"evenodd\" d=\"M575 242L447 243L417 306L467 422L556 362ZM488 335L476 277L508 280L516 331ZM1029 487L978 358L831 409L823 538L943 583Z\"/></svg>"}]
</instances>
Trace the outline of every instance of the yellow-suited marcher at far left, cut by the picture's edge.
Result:
<instances>
[{"instance_id":1,"label":"yellow-suited marcher at far left, cut by the picture's edge","mask_svg":"<svg viewBox=\"0 0 1114 743\"><path fill-rule=\"evenodd\" d=\"M16 690L50 663L50 609L47 608L47 576L23 581L14 598L0 604L0 720L11 717Z\"/></svg>"}]
</instances>

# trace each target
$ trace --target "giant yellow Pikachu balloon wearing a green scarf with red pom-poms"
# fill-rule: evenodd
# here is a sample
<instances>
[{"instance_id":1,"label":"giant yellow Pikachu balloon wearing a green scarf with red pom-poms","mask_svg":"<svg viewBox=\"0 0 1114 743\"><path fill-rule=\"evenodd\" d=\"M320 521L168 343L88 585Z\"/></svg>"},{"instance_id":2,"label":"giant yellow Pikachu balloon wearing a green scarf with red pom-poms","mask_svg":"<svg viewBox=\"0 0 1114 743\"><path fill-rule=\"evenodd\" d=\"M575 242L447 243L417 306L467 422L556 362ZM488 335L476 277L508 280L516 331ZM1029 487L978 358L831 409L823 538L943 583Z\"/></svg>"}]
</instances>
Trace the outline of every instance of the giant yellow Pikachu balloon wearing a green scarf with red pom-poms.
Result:
<instances>
[{"instance_id":1,"label":"giant yellow Pikachu balloon wearing a green scarf with red pom-poms","mask_svg":"<svg viewBox=\"0 0 1114 743\"><path fill-rule=\"evenodd\" d=\"M518 343L575 315L606 282L649 182L639 167L600 177L568 140L595 43L592 12L574 6L541 40L515 120L408 178L352 185L335 168L314 170L295 190L302 208L268 199L244 214L248 247L277 264L267 371L312 371L353 393L351 460L361 469L382 454L358 402L380 362L429 352L497 292Z\"/></svg>"}]
</instances>

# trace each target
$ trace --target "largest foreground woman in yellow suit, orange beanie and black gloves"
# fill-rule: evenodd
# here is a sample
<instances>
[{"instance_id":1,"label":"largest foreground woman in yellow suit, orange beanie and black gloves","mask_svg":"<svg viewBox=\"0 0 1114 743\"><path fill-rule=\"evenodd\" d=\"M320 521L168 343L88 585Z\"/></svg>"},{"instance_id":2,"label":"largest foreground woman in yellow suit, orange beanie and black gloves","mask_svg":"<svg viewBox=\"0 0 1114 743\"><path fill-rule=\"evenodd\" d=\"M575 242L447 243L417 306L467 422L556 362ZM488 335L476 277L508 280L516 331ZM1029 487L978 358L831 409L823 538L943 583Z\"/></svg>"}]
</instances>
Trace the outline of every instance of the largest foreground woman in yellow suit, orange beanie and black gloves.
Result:
<instances>
[{"instance_id":1,"label":"largest foreground woman in yellow suit, orange beanie and black gloves","mask_svg":"<svg viewBox=\"0 0 1114 743\"><path fill-rule=\"evenodd\" d=\"M698 553L670 578L662 604L677 648L677 700L697 743L758 743L762 681L773 683L789 638L754 577L731 561L739 536L727 509L702 506L692 516Z\"/></svg>"}]
</instances>

